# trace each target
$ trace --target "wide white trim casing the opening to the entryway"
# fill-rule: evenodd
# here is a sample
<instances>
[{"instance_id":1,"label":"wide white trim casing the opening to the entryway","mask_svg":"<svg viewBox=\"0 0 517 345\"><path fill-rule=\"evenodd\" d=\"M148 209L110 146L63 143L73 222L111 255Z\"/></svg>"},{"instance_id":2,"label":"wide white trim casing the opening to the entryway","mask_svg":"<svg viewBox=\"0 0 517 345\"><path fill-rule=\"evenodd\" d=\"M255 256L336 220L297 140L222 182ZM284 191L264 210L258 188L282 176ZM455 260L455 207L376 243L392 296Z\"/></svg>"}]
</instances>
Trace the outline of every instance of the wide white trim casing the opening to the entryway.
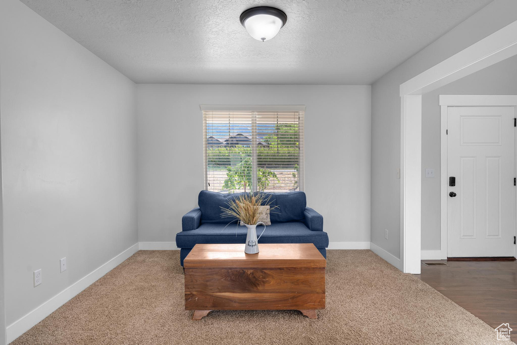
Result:
<instances>
[{"instance_id":1,"label":"wide white trim casing the opening to the entryway","mask_svg":"<svg viewBox=\"0 0 517 345\"><path fill-rule=\"evenodd\" d=\"M517 55L517 21L508 24L400 85L400 258L402 272L420 274L421 269L422 100L420 95L514 55Z\"/></svg>"}]
</instances>

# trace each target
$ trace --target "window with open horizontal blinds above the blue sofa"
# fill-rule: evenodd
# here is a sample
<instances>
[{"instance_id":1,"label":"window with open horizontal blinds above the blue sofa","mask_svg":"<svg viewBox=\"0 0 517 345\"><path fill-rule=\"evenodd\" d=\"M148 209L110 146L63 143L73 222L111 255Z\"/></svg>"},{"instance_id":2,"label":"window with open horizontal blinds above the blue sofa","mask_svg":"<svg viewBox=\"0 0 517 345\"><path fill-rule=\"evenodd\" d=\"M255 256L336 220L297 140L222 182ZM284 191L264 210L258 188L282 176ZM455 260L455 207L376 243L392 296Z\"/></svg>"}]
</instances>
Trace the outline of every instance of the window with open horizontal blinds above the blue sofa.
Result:
<instances>
[{"instance_id":1,"label":"window with open horizontal blinds above the blue sofa","mask_svg":"<svg viewBox=\"0 0 517 345\"><path fill-rule=\"evenodd\" d=\"M217 109L221 107L201 107L205 189L225 193L303 190L305 107Z\"/></svg>"}]
</instances>

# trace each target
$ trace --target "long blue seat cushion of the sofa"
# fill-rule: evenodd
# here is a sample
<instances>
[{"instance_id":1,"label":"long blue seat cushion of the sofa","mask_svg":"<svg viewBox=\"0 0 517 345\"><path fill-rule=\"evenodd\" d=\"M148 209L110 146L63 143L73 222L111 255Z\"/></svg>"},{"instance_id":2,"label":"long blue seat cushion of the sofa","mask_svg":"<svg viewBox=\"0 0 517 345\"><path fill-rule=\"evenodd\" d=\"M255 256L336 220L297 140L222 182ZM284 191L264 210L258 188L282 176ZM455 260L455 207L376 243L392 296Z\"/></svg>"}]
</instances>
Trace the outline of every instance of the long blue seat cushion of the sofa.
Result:
<instances>
[{"instance_id":1,"label":"long blue seat cushion of the sofa","mask_svg":"<svg viewBox=\"0 0 517 345\"><path fill-rule=\"evenodd\" d=\"M181 231L176 235L176 246L193 248L201 243L242 243L246 242L248 228L230 224L205 223L195 230ZM257 227L257 236L264 227ZM302 222L272 223L258 240L261 243L312 243L316 248L328 247L328 235L323 231L311 231Z\"/></svg>"}]
</instances>

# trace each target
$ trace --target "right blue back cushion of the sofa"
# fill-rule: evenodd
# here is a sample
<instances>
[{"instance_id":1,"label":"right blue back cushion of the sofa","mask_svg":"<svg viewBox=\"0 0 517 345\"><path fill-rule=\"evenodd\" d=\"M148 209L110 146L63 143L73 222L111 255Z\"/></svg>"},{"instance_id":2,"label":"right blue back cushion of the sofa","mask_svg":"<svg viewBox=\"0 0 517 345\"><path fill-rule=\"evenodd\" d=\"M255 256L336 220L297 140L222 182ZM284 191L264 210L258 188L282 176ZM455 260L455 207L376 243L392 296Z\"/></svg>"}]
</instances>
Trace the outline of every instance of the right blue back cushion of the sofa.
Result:
<instances>
[{"instance_id":1,"label":"right blue back cushion of the sofa","mask_svg":"<svg viewBox=\"0 0 517 345\"><path fill-rule=\"evenodd\" d=\"M283 193L264 193L269 199L269 205L279 206L271 209L269 217L271 223L283 223L287 221L303 221L307 198L305 192L292 191Z\"/></svg>"}]
</instances>

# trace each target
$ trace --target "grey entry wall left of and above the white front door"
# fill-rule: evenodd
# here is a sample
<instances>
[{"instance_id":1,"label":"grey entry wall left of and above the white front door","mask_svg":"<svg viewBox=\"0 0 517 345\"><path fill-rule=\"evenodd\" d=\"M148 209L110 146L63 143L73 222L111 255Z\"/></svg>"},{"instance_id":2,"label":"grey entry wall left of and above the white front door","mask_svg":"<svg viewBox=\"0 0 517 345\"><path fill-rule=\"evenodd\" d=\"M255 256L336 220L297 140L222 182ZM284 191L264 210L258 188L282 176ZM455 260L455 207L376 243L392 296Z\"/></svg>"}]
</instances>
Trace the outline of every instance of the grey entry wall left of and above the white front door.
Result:
<instances>
[{"instance_id":1,"label":"grey entry wall left of and above the white front door","mask_svg":"<svg viewBox=\"0 0 517 345\"><path fill-rule=\"evenodd\" d=\"M517 95L517 56L422 97L422 250L440 249L439 95ZM434 168L435 177L425 178L426 168Z\"/></svg>"}]
</instances>

